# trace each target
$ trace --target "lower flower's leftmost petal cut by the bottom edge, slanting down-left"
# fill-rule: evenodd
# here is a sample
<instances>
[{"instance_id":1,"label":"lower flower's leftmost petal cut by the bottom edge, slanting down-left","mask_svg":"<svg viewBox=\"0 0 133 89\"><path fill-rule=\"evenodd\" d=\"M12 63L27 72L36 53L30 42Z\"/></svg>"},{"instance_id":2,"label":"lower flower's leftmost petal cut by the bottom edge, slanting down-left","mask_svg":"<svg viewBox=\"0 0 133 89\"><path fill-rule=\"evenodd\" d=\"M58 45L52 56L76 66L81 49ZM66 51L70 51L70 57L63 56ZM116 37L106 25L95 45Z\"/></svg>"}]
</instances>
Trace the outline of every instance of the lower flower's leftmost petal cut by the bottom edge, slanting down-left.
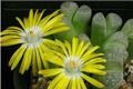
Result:
<instances>
[{"instance_id":1,"label":"lower flower's leftmost petal cut by the bottom edge, slanting down-left","mask_svg":"<svg viewBox=\"0 0 133 89\"><path fill-rule=\"evenodd\" d=\"M58 77L55 77L49 85L48 89L54 89L54 87L57 86L57 83L63 79L63 73L60 73Z\"/></svg>"}]
</instances>

